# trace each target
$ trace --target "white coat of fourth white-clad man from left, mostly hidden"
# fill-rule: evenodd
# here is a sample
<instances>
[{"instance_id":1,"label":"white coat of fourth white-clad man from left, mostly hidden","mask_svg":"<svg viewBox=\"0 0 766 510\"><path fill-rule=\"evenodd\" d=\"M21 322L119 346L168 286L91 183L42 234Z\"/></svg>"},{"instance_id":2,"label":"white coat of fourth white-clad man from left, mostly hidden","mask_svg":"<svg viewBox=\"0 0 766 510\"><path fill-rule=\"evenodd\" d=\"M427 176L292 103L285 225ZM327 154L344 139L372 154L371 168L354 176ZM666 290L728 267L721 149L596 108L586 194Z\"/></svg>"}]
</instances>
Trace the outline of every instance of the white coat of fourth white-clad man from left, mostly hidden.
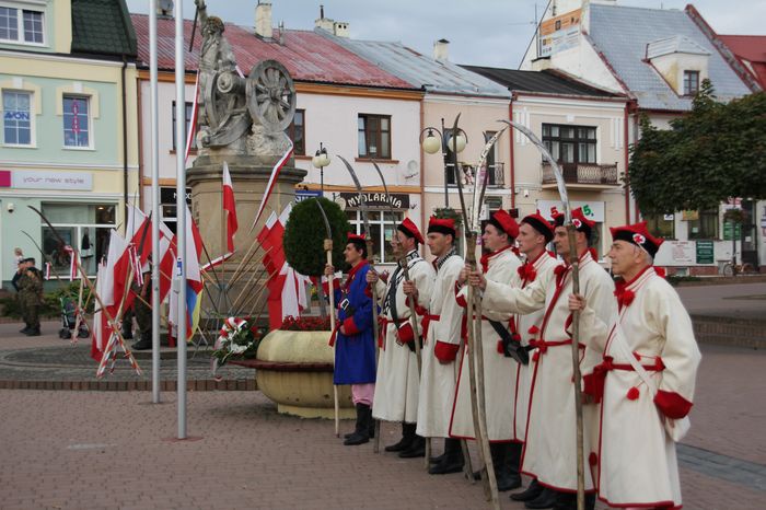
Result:
<instances>
[{"instance_id":1,"label":"white coat of fourth white-clad man from left, mostly hidden","mask_svg":"<svg viewBox=\"0 0 766 510\"><path fill-rule=\"evenodd\" d=\"M522 277L519 273L513 278L511 283L513 287L522 289L532 285L537 278L548 278L547 275L561 263L549 252L544 251L533 262L530 262L533 268L533 274L527 274ZM547 275L547 276L546 276ZM537 338L537 333L543 325L543 315L545 310L541 309L525 315L515 315L517 331L521 335L521 345L529 346L530 340ZM526 412L530 405L530 390L532 389L532 372L534 363L520 364L517 372L515 386L513 392L513 441L524 442L526 437Z\"/></svg>"}]
</instances>

